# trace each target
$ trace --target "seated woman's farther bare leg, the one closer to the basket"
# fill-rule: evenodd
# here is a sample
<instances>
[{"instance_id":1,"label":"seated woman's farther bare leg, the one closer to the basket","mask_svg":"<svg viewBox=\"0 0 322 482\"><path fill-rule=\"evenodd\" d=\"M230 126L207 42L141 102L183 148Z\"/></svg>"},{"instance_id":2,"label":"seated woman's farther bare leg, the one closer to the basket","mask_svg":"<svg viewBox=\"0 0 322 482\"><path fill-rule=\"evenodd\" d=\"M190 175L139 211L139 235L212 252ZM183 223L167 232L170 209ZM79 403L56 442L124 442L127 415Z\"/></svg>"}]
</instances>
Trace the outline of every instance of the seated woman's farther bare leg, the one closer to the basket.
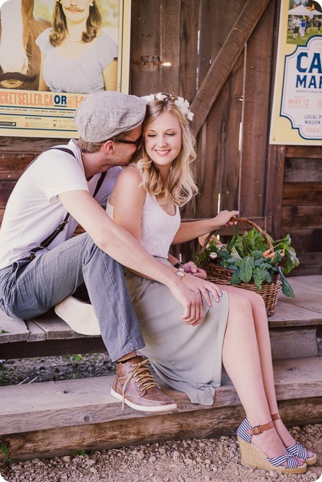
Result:
<instances>
[{"instance_id":1,"label":"seated woman's farther bare leg, the one closer to the basket","mask_svg":"<svg viewBox=\"0 0 322 482\"><path fill-rule=\"evenodd\" d=\"M270 348L270 334L268 331L268 317L266 315L263 298L251 290L243 290L234 286L222 286L222 290L226 290L228 293L235 293L239 296L243 296L251 303L265 395L270 408L270 413L277 413L278 407L275 394L274 374L272 369L272 352ZM275 428L285 447L289 447L295 443L294 438L281 420L275 421ZM308 457L311 457L312 455L312 452L308 451Z\"/></svg>"}]
</instances>

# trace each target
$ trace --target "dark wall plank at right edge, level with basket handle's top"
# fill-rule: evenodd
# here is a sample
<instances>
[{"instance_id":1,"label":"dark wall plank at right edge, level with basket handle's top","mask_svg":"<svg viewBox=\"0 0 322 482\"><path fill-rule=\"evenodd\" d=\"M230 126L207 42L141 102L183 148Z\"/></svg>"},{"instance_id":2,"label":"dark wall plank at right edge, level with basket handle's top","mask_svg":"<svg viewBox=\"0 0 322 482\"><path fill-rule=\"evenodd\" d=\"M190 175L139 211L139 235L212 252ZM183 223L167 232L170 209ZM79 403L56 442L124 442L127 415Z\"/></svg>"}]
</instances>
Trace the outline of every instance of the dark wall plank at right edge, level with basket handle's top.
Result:
<instances>
[{"instance_id":1,"label":"dark wall plank at right edge, level with basket handle's top","mask_svg":"<svg viewBox=\"0 0 322 482\"><path fill-rule=\"evenodd\" d=\"M282 206L283 230L321 228L322 206Z\"/></svg>"}]
</instances>

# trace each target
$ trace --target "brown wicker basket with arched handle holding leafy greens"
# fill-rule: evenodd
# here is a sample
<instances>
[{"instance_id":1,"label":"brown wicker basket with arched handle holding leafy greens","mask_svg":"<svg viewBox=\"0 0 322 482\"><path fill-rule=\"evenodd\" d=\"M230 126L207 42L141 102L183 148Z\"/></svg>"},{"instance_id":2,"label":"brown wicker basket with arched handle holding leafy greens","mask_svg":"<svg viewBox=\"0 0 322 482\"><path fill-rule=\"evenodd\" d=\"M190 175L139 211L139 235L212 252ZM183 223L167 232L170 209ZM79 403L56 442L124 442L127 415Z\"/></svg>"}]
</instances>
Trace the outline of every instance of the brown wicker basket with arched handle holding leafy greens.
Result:
<instances>
[{"instance_id":1,"label":"brown wicker basket with arched handle holding leafy greens","mask_svg":"<svg viewBox=\"0 0 322 482\"><path fill-rule=\"evenodd\" d=\"M263 238L265 242L268 244L269 248L272 248L272 243L270 242L270 239L268 235L266 235L265 231L263 231L257 224L253 223L253 221L250 221L247 218L236 218L235 221L241 222L241 223L247 223L251 225L255 230L258 230L258 233L263 235ZM212 235L214 232L209 233L207 236L204 245L202 249L200 250L200 254L202 254L211 239ZM202 269L205 269L207 272L207 279L209 281L212 281L212 283L217 283L219 285L230 285L231 284L231 276L234 274L234 271L231 269L226 269L223 266L219 266L216 264L214 261L202 261L200 264ZM253 281L250 281L249 283L241 283L239 285L233 285L236 286L237 288L245 288L246 290L251 290L255 291L255 293L258 293L264 300L265 302L265 307L266 307L266 312L268 317L274 315L275 312L275 305L277 303L277 298L278 298L278 293L280 291L280 287L282 285L282 279L280 274L274 274L272 277L272 283L269 284L267 281L264 281L262 284L262 290L258 290L257 286Z\"/></svg>"}]
</instances>

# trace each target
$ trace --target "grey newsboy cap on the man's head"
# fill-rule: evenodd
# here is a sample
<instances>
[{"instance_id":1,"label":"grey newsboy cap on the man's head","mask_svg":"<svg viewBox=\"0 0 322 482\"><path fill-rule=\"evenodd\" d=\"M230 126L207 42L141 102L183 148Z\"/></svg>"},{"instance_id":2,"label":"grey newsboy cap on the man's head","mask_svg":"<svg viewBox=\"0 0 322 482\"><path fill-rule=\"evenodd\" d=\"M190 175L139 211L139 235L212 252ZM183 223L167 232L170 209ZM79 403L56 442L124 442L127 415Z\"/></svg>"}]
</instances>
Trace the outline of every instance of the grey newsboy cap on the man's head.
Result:
<instances>
[{"instance_id":1,"label":"grey newsboy cap on the man's head","mask_svg":"<svg viewBox=\"0 0 322 482\"><path fill-rule=\"evenodd\" d=\"M87 95L74 115L81 139L103 142L142 124L146 102L136 95L104 90Z\"/></svg>"}]
</instances>

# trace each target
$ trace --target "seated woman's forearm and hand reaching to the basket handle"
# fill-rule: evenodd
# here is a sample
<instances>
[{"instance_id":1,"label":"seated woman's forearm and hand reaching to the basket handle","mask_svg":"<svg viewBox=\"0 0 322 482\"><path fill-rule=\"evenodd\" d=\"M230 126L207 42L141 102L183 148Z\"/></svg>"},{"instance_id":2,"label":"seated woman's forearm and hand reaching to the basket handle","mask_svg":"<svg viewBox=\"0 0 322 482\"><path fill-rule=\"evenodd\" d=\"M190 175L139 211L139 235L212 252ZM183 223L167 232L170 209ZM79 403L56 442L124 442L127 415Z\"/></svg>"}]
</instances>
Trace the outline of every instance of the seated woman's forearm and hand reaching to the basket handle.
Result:
<instances>
[{"instance_id":1,"label":"seated woman's forearm and hand reaching to the basket handle","mask_svg":"<svg viewBox=\"0 0 322 482\"><path fill-rule=\"evenodd\" d=\"M236 223L230 220L233 216L238 216L238 214L239 211L221 211L215 218L181 223L173 239L173 245L180 245L182 242L195 240L197 237L211 233L225 225L234 225Z\"/></svg>"}]
</instances>

